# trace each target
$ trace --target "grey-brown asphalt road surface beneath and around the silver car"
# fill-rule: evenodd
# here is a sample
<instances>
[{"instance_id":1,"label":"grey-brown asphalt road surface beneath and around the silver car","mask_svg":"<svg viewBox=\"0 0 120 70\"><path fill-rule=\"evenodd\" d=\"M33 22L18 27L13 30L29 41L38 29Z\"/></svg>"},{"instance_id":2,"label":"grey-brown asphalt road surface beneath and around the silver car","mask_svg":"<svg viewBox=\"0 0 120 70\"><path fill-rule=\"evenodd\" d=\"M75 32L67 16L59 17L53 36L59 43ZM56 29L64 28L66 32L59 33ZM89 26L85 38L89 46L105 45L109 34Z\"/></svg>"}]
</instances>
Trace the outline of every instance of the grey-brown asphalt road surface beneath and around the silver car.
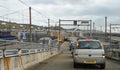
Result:
<instances>
[{"instance_id":1,"label":"grey-brown asphalt road surface beneath and around the silver car","mask_svg":"<svg viewBox=\"0 0 120 70\"><path fill-rule=\"evenodd\" d=\"M106 59L106 68L100 69L95 65L84 65L75 69L73 67L73 59L68 49L61 54L43 61L29 70L120 70L120 62Z\"/></svg>"}]
</instances>

